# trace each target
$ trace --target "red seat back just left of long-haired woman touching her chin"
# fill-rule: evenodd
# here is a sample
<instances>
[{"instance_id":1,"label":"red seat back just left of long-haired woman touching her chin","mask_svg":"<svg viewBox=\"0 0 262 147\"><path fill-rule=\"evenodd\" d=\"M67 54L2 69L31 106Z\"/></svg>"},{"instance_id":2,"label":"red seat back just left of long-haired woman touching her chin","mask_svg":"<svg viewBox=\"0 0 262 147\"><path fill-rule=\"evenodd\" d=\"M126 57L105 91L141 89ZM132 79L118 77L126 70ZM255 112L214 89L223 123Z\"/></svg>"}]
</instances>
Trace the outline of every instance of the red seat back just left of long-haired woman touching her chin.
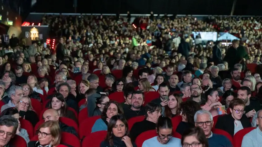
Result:
<instances>
[{"instance_id":1,"label":"red seat back just left of long-haired woman touching her chin","mask_svg":"<svg viewBox=\"0 0 262 147\"><path fill-rule=\"evenodd\" d=\"M107 131L93 132L84 138L82 146L100 147L100 143L105 140L106 136Z\"/></svg>"}]
</instances>

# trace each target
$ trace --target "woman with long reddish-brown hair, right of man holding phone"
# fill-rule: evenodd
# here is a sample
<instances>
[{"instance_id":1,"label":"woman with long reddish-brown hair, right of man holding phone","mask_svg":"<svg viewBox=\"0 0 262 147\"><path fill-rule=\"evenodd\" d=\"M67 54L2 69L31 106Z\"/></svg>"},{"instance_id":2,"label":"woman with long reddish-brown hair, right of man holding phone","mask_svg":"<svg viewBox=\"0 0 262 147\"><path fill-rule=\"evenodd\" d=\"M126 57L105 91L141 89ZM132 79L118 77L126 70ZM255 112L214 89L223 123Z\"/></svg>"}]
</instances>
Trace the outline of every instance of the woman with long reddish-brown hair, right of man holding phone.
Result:
<instances>
[{"instance_id":1,"label":"woman with long reddish-brown hair, right of man holding phone","mask_svg":"<svg viewBox=\"0 0 262 147\"><path fill-rule=\"evenodd\" d=\"M164 108L164 116L169 117L170 119L172 117L178 116L180 114L180 107L182 103L182 98L179 94L171 94L168 99L167 106Z\"/></svg>"}]
</instances>

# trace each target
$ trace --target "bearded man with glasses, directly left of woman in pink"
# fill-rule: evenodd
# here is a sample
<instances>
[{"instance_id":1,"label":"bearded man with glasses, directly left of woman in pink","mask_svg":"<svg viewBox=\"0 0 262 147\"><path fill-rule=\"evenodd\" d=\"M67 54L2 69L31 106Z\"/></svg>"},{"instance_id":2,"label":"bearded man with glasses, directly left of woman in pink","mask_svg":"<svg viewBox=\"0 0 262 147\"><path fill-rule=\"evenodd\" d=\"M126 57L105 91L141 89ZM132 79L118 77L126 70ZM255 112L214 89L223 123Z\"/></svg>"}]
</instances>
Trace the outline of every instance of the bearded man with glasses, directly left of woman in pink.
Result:
<instances>
[{"instance_id":1,"label":"bearded man with glasses, directly left of woman in pink","mask_svg":"<svg viewBox=\"0 0 262 147\"><path fill-rule=\"evenodd\" d=\"M198 84L192 84L190 86L191 91L191 97L187 101L195 101L199 103L199 105L205 105L206 104L206 98L204 95L201 95L202 89Z\"/></svg>"}]
</instances>

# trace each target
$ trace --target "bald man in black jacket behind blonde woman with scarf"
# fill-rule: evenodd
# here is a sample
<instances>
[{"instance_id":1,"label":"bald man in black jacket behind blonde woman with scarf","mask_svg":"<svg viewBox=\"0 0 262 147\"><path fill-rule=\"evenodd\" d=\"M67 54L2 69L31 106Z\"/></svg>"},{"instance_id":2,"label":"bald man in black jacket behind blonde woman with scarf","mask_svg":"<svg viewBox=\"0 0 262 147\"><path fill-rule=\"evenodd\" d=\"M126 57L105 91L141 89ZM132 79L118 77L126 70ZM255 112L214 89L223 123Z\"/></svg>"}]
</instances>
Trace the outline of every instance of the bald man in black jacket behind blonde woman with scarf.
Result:
<instances>
[{"instance_id":1,"label":"bald man in black jacket behind blonde woman with scarf","mask_svg":"<svg viewBox=\"0 0 262 147\"><path fill-rule=\"evenodd\" d=\"M59 114L55 109L47 109L43 114L44 121L58 121L61 131L71 133L78 137L74 127L67 126L66 124L59 121Z\"/></svg>"}]
</instances>

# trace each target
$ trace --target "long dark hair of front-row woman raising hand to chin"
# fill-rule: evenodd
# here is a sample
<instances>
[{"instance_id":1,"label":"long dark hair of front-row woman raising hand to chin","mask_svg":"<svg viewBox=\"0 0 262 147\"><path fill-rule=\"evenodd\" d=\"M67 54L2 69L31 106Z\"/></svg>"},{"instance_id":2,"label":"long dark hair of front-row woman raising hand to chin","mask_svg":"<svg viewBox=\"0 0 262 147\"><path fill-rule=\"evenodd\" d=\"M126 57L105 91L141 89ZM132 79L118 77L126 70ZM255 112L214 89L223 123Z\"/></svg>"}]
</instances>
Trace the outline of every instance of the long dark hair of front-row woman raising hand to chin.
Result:
<instances>
[{"instance_id":1,"label":"long dark hair of front-row woman raising hand to chin","mask_svg":"<svg viewBox=\"0 0 262 147\"><path fill-rule=\"evenodd\" d=\"M125 129L126 129L125 135L126 136L129 135L128 122L126 121L125 117L123 115L119 115L119 114L112 116L108 125L107 125L107 137L105 139L105 141L109 142L110 146L114 146L114 143L113 143L113 137L114 137L113 128L115 127L116 122L118 120L122 121L125 124Z\"/></svg>"}]
</instances>

